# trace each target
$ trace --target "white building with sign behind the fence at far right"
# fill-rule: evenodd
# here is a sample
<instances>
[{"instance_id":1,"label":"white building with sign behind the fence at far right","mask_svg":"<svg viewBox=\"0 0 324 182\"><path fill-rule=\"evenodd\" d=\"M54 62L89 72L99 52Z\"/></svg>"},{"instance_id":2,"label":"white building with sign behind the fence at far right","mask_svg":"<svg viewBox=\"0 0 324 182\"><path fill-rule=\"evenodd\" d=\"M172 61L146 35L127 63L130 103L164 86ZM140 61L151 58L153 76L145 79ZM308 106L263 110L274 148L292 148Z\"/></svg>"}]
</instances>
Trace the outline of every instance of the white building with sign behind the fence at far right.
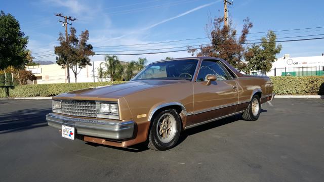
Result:
<instances>
[{"instance_id":1,"label":"white building with sign behind the fence at far right","mask_svg":"<svg viewBox=\"0 0 324 182\"><path fill-rule=\"evenodd\" d=\"M260 74L253 71L251 74ZM267 76L324 75L324 56L290 57L288 54L272 63Z\"/></svg>"}]
</instances>

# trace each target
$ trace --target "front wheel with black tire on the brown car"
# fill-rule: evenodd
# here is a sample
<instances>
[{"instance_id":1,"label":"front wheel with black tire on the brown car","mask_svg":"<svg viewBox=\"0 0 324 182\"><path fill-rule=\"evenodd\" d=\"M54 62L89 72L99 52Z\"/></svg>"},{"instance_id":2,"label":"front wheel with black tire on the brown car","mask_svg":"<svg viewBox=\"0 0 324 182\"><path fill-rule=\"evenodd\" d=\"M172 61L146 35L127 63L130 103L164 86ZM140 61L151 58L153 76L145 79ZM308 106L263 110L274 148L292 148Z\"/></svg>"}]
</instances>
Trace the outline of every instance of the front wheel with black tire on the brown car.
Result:
<instances>
[{"instance_id":1,"label":"front wheel with black tire on the brown car","mask_svg":"<svg viewBox=\"0 0 324 182\"><path fill-rule=\"evenodd\" d=\"M172 119L172 117L174 118L175 122ZM166 123L171 123L171 124L168 126L164 124L163 122L165 121L164 119L166 119ZM177 145L177 142L180 137L180 133L181 133L181 118L177 113L177 111L174 109L161 111L154 117L151 123L151 127L148 134L147 147L149 149L157 150L157 151L165 151L171 149L175 145ZM168 137L170 138L168 139Z\"/></svg>"}]
</instances>

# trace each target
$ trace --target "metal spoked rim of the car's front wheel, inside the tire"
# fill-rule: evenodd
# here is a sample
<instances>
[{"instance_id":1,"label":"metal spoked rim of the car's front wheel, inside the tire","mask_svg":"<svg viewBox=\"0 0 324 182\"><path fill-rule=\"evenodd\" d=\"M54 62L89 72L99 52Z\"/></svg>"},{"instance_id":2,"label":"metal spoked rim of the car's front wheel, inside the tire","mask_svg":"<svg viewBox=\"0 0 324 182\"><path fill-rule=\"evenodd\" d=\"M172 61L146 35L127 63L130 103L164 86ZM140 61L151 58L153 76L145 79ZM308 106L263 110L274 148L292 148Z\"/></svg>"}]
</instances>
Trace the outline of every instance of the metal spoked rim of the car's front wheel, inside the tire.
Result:
<instances>
[{"instance_id":1,"label":"metal spoked rim of the car's front wheel, inside the tire","mask_svg":"<svg viewBox=\"0 0 324 182\"><path fill-rule=\"evenodd\" d=\"M165 113L160 116L156 125L156 134L159 141L169 143L172 141L177 131L176 119L172 114Z\"/></svg>"}]
</instances>

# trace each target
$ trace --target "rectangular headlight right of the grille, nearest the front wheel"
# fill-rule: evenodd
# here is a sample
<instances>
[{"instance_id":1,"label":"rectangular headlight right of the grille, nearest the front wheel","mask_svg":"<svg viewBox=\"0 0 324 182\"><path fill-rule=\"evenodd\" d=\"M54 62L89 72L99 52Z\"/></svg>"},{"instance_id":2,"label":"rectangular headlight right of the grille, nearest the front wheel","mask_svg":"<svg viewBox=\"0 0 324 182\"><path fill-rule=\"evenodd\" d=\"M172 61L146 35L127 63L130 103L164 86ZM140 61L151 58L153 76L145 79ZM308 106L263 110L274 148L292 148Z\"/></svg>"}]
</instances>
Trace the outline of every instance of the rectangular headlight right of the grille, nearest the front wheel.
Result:
<instances>
[{"instance_id":1,"label":"rectangular headlight right of the grille, nearest the front wheel","mask_svg":"<svg viewBox=\"0 0 324 182\"><path fill-rule=\"evenodd\" d=\"M119 119L118 104L96 102L98 118Z\"/></svg>"}]
</instances>

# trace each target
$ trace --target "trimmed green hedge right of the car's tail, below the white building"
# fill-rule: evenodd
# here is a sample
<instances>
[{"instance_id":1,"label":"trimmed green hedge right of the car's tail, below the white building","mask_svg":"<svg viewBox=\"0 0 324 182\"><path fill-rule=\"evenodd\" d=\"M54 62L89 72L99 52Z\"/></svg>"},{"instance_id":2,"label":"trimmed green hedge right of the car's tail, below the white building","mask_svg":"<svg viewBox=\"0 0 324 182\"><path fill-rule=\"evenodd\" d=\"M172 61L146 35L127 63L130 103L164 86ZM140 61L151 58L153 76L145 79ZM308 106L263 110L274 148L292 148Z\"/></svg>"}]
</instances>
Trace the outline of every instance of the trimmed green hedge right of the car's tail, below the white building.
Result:
<instances>
[{"instance_id":1,"label":"trimmed green hedge right of the car's tail, below the white building","mask_svg":"<svg viewBox=\"0 0 324 182\"><path fill-rule=\"evenodd\" d=\"M271 76L278 95L324 95L324 76Z\"/></svg>"}]
</instances>

